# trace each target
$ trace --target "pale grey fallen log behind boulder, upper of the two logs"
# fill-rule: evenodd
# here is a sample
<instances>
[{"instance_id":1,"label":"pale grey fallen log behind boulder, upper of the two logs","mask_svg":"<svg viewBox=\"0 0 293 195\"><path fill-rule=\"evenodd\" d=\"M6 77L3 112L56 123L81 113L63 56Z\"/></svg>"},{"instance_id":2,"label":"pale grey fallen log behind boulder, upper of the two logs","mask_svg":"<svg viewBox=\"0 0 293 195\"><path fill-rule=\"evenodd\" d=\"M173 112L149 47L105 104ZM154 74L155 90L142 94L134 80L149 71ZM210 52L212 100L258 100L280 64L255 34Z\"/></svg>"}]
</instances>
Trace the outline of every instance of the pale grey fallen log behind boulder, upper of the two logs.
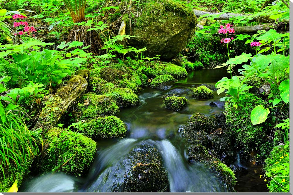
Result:
<instances>
[{"instance_id":1,"label":"pale grey fallen log behind boulder, upper of the two logs","mask_svg":"<svg viewBox=\"0 0 293 195\"><path fill-rule=\"evenodd\" d=\"M202 15L209 14L208 16L205 16L203 18L208 18L210 16L220 14L219 16L214 18L215 20L229 20L230 18L235 18L238 16L246 17L246 16L251 15L251 14L239 14L239 13L222 13L221 14L221 13L212 13L212 12L199 11L199 10L193 10L193 13L196 17L201 17ZM276 20L271 19L270 16L257 16L249 21L250 22L257 21L257 22L261 22L261 23L274 23L274 22L276 22Z\"/></svg>"}]
</instances>

